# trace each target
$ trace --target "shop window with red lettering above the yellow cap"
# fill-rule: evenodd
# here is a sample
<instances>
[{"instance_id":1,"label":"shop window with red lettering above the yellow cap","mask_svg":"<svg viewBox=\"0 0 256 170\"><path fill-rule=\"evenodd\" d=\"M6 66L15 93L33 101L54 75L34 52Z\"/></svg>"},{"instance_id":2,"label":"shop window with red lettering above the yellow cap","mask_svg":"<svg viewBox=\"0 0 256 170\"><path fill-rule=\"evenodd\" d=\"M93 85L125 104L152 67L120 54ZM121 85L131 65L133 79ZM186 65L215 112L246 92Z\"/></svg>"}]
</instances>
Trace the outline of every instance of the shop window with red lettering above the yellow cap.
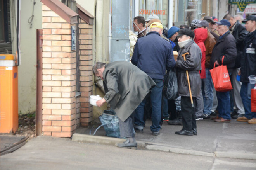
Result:
<instances>
[{"instance_id":1,"label":"shop window with red lettering above the yellow cap","mask_svg":"<svg viewBox=\"0 0 256 170\"><path fill-rule=\"evenodd\" d=\"M139 0L139 15L149 17L155 14L168 27L168 0Z\"/></svg>"}]
</instances>

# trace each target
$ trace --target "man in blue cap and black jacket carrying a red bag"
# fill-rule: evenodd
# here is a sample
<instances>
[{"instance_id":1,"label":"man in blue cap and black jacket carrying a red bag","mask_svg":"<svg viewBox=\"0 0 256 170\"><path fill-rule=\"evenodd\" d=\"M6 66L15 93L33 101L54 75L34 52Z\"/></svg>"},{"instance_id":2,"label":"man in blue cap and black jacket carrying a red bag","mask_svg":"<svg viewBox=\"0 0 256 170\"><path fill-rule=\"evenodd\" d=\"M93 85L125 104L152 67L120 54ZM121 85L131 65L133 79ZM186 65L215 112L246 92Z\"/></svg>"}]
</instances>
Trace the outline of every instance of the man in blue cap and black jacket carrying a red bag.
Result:
<instances>
[{"instance_id":1,"label":"man in blue cap and black jacket carrying a red bag","mask_svg":"<svg viewBox=\"0 0 256 170\"><path fill-rule=\"evenodd\" d=\"M219 41L213 48L211 55L210 68L212 69L214 63L216 66L226 65L228 73L231 75L235 66L235 58L237 56L237 49L235 44L235 38L230 34L229 27L230 22L226 19L216 22L218 24L217 31L220 34ZM222 57L224 57L222 63ZM217 92L218 99L218 112L219 116L214 119L215 122L230 122L230 95L228 92Z\"/></svg>"}]
</instances>

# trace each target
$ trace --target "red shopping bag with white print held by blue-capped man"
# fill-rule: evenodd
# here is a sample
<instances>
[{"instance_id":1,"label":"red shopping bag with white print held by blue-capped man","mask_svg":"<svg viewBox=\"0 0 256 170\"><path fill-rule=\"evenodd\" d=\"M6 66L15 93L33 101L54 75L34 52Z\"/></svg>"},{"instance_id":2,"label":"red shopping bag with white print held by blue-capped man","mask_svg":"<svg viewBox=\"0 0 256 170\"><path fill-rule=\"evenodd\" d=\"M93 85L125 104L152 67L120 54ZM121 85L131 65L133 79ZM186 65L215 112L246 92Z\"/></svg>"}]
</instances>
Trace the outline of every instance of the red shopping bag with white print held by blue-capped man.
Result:
<instances>
[{"instance_id":1,"label":"red shopping bag with white print held by blue-capped man","mask_svg":"<svg viewBox=\"0 0 256 170\"><path fill-rule=\"evenodd\" d=\"M222 63L223 63L224 56L222 57ZM228 69L227 66L220 65L218 67L214 67L210 70L211 72L211 78L213 79L213 85L215 87L215 90L218 92L227 92L232 88Z\"/></svg>"}]
</instances>

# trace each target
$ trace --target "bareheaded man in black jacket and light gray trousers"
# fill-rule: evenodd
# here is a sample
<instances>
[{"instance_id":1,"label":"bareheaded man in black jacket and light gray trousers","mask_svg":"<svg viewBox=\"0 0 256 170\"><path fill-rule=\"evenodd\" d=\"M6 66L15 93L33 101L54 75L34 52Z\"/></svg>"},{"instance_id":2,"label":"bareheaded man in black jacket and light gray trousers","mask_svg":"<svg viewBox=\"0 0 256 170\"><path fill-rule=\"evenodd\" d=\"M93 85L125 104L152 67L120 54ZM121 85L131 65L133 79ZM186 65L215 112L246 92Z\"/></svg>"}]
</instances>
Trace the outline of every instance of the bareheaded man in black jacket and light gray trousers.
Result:
<instances>
[{"instance_id":1,"label":"bareheaded man in black jacket and light gray trousers","mask_svg":"<svg viewBox=\"0 0 256 170\"><path fill-rule=\"evenodd\" d=\"M243 41L248 32L246 31L245 27L242 24L240 24L239 21L234 19L234 17L231 14L226 14L223 17L223 19L226 19L230 22L230 32L235 38L236 47L237 47L237 57L235 60L235 67L232 71L232 75L230 76L232 87L233 87L232 96L233 96L234 106L237 108L237 112L233 112L231 116L232 116L232 119L237 119L237 117L244 116L244 106L240 96L240 89L241 89L242 83L237 81L236 77L241 67L240 63L241 63L241 57L243 55L243 47L244 47ZM232 107L233 106L231 105L231 109Z\"/></svg>"}]
</instances>

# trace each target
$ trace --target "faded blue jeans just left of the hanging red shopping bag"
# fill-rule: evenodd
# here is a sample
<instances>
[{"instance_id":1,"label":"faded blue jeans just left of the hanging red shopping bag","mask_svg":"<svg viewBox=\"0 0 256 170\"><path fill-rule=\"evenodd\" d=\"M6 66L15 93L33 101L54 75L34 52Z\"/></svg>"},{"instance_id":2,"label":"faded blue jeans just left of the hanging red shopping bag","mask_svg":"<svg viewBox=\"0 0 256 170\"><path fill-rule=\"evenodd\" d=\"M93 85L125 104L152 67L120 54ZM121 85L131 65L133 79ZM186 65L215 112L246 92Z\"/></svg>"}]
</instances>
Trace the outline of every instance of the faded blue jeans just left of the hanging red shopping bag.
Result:
<instances>
[{"instance_id":1,"label":"faded blue jeans just left of the hanging red shopping bag","mask_svg":"<svg viewBox=\"0 0 256 170\"><path fill-rule=\"evenodd\" d=\"M204 98L204 114L211 114L213 107L213 80L209 69L205 69L206 78L202 79L202 95Z\"/></svg>"}]
</instances>

